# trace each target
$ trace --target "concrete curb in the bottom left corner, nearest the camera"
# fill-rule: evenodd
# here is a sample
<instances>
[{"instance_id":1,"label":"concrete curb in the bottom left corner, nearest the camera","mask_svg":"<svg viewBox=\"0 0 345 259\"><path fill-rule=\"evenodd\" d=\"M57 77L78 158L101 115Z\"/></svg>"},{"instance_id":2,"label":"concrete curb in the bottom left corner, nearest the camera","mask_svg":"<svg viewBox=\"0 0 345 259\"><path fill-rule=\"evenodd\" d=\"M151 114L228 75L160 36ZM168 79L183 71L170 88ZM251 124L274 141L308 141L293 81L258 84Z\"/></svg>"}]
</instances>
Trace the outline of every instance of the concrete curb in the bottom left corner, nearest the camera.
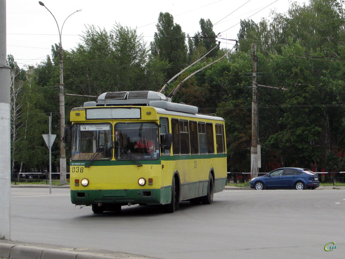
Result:
<instances>
[{"instance_id":1,"label":"concrete curb in the bottom left corner, nearest the camera","mask_svg":"<svg viewBox=\"0 0 345 259\"><path fill-rule=\"evenodd\" d=\"M119 257L93 255L56 249L45 249L0 243L0 258L10 259L118 259Z\"/></svg>"}]
</instances>

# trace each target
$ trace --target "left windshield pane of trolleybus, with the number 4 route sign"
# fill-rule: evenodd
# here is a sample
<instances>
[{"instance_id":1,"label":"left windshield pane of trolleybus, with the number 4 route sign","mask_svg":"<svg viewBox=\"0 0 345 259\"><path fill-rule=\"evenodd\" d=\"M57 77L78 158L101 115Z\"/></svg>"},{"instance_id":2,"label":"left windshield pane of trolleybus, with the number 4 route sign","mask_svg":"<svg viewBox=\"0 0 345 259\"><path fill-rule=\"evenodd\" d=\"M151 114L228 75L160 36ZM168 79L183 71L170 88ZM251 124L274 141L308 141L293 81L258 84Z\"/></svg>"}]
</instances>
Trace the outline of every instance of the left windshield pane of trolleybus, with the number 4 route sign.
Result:
<instances>
[{"instance_id":1,"label":"left windshield pane of trolleybus, with the number 4 route sign","mask_svg":"<svg viewBox=\"0 0 345 259\"><path fill-rule=\"evenodd\" d=\"M73 124L71 159L110 160L112 158L111 124Z\"/></svg>"}]
</instances>

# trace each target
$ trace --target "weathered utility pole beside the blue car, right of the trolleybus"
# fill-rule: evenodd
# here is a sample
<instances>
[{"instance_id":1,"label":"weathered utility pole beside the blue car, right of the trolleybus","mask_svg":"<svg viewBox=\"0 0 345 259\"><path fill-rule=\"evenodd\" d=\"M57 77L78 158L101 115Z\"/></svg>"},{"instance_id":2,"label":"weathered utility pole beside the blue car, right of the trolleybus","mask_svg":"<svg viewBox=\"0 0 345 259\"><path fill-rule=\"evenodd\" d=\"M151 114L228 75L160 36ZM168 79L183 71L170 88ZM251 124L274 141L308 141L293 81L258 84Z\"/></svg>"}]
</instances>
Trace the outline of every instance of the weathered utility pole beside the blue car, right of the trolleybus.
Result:
<instances>
[{"instance_id":1,"label":"weathered utility pole beside the blue car, right of the trolleybus","mask_svg":"<svg viewBox=\"0 0 345 259\"><path fill-rule=\"evenodd\" d=\"M257 137L257 125L258 125L258 92L257 92L257 67L258 57L256 51L256 44L252 44L253 47L253 99L252 99L252 146L250 147L250 173L252 179L258 176L258 137Z\"/></svg>"}]
</instances>

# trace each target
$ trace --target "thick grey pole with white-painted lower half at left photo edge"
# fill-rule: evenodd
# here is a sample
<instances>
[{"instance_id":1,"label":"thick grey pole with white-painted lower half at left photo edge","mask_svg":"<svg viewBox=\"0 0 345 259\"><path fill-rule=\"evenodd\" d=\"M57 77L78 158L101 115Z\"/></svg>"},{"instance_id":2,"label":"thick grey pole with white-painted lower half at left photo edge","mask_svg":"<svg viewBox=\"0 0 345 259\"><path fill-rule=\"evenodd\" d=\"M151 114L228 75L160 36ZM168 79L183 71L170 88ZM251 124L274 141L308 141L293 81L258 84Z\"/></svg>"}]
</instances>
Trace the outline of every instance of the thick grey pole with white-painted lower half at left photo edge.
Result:
<instances>
[{"instance_id":1,"label":"thick grey pole with white-painted lower half at left photo edge","mask_svg":"<svg viewBox=\"0 0 345 259\"><path fill-rule=\"evenodd\" d=\"M6 0L0 0L0 239L11 239L10 67L6 58Z\"/></svg>"}]
</instances>

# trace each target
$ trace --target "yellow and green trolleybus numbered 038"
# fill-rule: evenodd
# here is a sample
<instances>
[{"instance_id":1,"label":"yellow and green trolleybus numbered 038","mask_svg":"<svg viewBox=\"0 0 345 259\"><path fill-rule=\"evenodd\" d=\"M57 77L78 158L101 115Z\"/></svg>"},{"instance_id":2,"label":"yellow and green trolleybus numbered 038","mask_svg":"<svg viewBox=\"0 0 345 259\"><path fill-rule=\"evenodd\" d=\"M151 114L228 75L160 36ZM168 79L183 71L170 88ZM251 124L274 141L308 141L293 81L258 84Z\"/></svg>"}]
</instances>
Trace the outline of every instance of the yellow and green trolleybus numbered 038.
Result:
<instances>
[{"instance_id":1,"label":"yellow and green trolleybus numbered 038","mask_svg":"<svg viewBox=\"0 0 345 259\"><path fill-rule=\"evenodd\" d=\"M73 108L71 201L94 213L122 205L210 204L226 184L224 119L153 91L108 92Z\"/></svg>"}]
</instances>

